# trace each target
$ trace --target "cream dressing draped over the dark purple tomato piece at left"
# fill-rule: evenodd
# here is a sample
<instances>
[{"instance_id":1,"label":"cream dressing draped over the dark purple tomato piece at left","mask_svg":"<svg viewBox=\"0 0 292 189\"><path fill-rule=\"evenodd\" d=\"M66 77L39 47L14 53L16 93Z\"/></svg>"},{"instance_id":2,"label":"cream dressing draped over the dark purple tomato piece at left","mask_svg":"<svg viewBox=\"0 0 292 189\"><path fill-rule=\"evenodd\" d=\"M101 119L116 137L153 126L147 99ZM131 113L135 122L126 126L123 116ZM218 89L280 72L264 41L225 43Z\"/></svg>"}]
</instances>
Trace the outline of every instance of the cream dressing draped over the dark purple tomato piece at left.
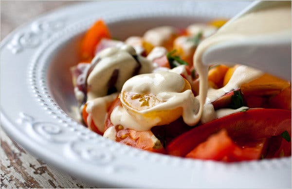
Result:
<instances>
[{"instance_id":1,"label":"cream dressing draped over the dark purple tomato piece at left","mask_svg":"<svg viewBox=\"0 0 292 189\"><path fill-rule=\"evenodd\" d=\"M118 78L115 84L117 91L121 91L123 84L132 77L137 61L132 57L135 49L131 46L110 47L100 51L93 61L100 58L88 76L88 100L107 95L108 82L114 70L118 70ZM138 57L141 68L139 73L149 73L152 71L152 63L143 57Z\"/></svg>"}]
</instances>

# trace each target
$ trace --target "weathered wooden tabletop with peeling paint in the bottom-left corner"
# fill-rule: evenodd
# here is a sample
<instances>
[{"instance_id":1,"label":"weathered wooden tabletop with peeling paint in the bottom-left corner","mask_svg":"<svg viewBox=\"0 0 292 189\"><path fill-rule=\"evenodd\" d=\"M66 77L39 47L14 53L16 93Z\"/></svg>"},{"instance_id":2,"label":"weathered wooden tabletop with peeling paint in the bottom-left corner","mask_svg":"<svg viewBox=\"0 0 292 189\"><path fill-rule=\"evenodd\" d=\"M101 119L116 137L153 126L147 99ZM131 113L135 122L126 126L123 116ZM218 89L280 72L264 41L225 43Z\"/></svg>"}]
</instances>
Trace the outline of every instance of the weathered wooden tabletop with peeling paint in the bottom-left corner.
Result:
<instances>
[{"instance_id":1,"label":"weathered wooden tabletop with peeling paint in the bottom-left corner","mask_svg":"<svg viewBox=\"0 0 292 189\"><path fill-rule=\"evenodd\" d=\"M33 157L1 129L1 188L96 188Z\"/></svg>"}]
</instances>

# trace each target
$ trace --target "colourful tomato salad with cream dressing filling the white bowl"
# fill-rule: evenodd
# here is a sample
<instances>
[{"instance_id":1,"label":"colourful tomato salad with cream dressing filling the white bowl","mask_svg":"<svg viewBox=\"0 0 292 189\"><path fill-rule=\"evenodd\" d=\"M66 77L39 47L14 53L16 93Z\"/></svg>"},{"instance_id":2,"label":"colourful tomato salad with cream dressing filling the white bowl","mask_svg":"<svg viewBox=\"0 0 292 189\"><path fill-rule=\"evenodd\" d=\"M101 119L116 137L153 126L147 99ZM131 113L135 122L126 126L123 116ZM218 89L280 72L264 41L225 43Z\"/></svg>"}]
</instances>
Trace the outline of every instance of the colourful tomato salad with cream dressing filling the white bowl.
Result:
<instances>
[{"instance_id":1,"label":"colourful tomato salad with cream dressing filling the white bowl","mask_svg":"<svg viewBox=\"0 0 292 189\"><path fill-rule=\"evenodd\" d=\"M216 96L207 96L200 120L192 120L200 90L193 55L225 22L162 26L119 41L98 20L71 69L85 126L173 156L225 162L291 156L290 81L244 65L214 64L208 91Z\"/></svg>"}]
</instances>

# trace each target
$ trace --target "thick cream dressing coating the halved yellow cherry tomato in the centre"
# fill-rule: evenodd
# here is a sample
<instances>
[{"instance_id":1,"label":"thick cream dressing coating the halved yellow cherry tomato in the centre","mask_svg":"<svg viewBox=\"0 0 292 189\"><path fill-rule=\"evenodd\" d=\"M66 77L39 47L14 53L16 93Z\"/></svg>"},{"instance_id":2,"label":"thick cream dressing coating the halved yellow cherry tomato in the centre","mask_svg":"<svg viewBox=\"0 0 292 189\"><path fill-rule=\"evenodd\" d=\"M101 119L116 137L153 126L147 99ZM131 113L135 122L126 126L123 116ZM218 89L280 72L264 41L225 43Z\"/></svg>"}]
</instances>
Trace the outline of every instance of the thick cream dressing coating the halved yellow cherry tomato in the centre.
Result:
<instances>
[{"instance_id":1,"label":"thick cream dressing coating the halved yellow cherry tomato in the centre","mask_svg":"<svg viewBox=\"0 0 292 189\"><path fill-rule=\"evenodd\" d=\"M192 124L190 122L192 121L194 112L198 111L199 101L195 98L191 90L183 91L185 85L186 82L181 75L168 71L143 74L128 79L123 86L122 94L153 94L162 103L158 103L148 109L138 110L142 116L138 114L133 116L131 111L134 110L133 108L127 107L126 109L119 107L111 113L110 120L112 123L115 123L114 125L122 125L127 128L135 127L135 130L149 130L160 121L160 118L151 117L145 119L143 114L183 107L183 120L187 124ZM135 109L135 111L137 110ZM130 115L125 115L125 112L128 112ZM122 119L122 115L125 116L124 119Z\"/></svg>"}]
</instances>

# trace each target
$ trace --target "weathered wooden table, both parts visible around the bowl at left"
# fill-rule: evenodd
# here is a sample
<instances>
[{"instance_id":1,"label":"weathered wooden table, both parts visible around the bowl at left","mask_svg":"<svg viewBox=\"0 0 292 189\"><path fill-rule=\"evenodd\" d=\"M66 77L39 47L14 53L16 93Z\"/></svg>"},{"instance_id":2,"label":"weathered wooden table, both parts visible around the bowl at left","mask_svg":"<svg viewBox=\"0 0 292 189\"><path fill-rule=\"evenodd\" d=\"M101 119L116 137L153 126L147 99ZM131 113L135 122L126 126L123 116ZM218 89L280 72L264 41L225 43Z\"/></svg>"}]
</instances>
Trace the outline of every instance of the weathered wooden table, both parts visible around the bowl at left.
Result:
<instances>
[{"instance_id":1,"label":"weathered wooden table, both parts visible around the bowl at left","mask_svg":"<svg viewBox=\"0 0 292 189\"><path fill-rule=\"evenodd\" d=\"M0 1L1 40L44 12L76 1ZM28 11L30 10L30 11ZM1 188L96 188L33 157L0 128Z\"/></svg>"}]
</instances>

